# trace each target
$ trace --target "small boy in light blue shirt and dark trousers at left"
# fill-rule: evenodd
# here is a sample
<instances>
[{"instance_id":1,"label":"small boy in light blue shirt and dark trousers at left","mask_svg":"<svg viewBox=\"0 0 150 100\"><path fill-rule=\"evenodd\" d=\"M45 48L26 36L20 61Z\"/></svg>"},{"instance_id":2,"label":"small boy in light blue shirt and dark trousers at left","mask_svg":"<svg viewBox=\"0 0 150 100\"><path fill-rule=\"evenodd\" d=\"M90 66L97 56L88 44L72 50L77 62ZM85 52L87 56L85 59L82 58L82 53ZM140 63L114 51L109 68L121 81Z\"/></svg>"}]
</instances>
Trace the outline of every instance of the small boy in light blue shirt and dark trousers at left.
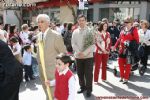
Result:
<instances>
[{"instance_id":1,"label":"small boy in light blue shirt and dark trousers at left","mask_svg":"<svg viewBox=\"0 0 150 100\"><path fill-rule=\"evenodd\" d=\"M32 71L32 54L31 54L31 46L24 46L24 54L23 54L23 64L25 69L25 80L29 81L33 80L33 71Z\"/></svg>"}]
</instances>

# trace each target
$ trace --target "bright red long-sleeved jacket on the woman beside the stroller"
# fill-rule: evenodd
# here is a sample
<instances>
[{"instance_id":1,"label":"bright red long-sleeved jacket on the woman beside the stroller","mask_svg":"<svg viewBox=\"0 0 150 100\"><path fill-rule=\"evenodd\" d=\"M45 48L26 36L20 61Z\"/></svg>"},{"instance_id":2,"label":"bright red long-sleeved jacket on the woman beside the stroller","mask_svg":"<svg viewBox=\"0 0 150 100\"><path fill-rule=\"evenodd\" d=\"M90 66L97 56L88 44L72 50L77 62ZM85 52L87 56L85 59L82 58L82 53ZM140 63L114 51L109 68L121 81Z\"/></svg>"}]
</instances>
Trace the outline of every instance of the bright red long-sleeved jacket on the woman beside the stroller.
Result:
<instances>
[{"instance_id":1,"label":"bright red long-sleeved jacket on the woman beside the stroller","mask_svg":"<svg viewBox=\"0 0 150 100\"><path fill-rule=\"evenodd\" d=\"M125 34L125 31L120 32L120 37L115 44L115 48L119 47L119 54L123 53L125 49L125 41L136 40L139 43L139 35L137 28L133 27L129 32Z\"/></svg>"}]
</instances>

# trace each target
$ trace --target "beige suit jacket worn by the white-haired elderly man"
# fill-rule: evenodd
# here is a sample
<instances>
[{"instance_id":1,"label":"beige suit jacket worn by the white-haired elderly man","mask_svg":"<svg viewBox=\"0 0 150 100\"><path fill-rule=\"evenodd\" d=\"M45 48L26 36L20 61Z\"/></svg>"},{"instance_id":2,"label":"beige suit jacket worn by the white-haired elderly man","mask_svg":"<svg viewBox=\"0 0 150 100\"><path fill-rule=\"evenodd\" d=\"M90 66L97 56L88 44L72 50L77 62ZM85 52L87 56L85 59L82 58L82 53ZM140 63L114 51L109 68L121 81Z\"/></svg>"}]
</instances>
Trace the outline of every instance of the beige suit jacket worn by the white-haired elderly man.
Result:
<instances>
[{"instance_id":1,"label":"beige suit jacket worn by the white-haired elderly man","mask_svg":"<svg viewBox=\"0 0 150 100\"><path fill-rule=\"evenodd\" d=\"M41 34L42 33L38 34L38 42L42 40ZM55 78L56 56L64 52L66 52L66 47L64 45L62 36L59 35L58 32L49 29L44 38L44 60L45 60L46 75L49 80L53 80ZM42 85L45 88L44 83L43 83L45 80L44 80L43 72L41 69L39 52L37 54L37 59L39 63L40 78L42 81Z\"/></svg>"}]
</instances>

